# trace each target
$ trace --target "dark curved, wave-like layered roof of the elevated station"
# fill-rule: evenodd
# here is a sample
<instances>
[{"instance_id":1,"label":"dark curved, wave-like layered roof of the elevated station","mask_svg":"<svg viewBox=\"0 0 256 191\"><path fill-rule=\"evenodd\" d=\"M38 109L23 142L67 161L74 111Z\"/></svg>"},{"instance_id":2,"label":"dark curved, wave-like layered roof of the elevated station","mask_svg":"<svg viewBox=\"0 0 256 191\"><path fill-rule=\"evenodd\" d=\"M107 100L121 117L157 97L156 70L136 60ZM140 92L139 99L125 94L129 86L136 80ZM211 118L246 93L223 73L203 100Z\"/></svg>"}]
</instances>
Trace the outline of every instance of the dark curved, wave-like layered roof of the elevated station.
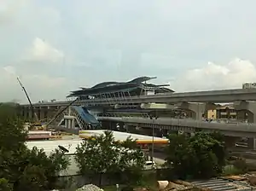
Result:
<instances>
[{"instance_id":1,"label":"dark curved, wave-like layered roof of the elevated station","mask_svg":"<svg viewBox=\"0 0 256 191\"><path fill-rule=\"evenodd\" d=\"M155 77L154 77L155 78ZM99 96L104 94L118 94L121 92L129 92L130 96L140 96L145 91L154 91L155 94L174 92L166 88L169 84L148 84L148 80L154 79L149 77L139 77L132 79L128 82L103 82L96 84L91 88L80 88L80 90L74 90L67 97L79 97L79 96ZM125 93L122 96L125 96Z\"/></svg>"}]
</instances>

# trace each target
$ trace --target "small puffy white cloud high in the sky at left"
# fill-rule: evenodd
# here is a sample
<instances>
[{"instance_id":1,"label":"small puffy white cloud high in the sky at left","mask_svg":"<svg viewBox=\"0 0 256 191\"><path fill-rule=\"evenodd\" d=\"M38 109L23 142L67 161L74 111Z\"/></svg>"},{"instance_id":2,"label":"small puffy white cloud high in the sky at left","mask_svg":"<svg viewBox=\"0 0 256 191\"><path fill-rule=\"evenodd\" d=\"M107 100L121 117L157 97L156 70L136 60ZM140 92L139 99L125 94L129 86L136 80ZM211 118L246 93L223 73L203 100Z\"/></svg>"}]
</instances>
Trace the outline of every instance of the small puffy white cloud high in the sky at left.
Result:
<instances>
[{"instance_id":1,"label":"small puffy white cloud high in the sky at left","mask_svg":"<svg viewBox=\"0 0 256 191\"><path fill-rule=\"evenodd\" d=\"M27 53L27 60L29 61L62 63L63 58L64 54L61 50L56 49L42 38L35 38L32 42L32 48Z\"/></svg>"}]
</instances>

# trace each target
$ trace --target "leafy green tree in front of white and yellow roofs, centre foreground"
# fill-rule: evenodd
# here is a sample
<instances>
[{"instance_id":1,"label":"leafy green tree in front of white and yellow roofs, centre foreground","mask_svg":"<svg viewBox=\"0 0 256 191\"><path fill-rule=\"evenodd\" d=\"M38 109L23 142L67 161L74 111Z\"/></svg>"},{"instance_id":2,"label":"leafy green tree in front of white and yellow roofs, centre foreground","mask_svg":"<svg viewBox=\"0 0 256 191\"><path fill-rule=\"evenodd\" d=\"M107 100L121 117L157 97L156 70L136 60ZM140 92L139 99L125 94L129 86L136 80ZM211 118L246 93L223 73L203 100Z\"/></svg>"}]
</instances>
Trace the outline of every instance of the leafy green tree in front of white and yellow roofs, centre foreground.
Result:
<instances>
[{"instance_id":1,"label":"leafy green tree in front of white and yellow roofs, centre foreground","mask_svg":"<svg viewBox=\"0 0 256 191\"><path fill-rule=\"evenodd\" d=\"M140 180L145 164L143 151L137 148L135 140L129 137L125 142L115 142L111 131L84 141L77 148L75 159L82 174L112 177L126 174L130 182Z\"/></svg>"}]
</instances>

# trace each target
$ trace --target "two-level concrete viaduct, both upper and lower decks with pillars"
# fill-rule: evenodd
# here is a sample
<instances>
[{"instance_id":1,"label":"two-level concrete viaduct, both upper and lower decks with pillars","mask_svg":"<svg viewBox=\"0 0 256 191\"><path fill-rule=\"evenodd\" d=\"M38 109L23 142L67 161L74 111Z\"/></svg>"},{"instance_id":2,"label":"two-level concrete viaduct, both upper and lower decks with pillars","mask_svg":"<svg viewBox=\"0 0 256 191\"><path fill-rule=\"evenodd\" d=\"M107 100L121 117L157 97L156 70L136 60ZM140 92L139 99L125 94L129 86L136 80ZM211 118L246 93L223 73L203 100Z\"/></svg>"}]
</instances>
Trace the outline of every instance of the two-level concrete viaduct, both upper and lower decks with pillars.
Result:
<instances>
[{"instance_id":1,"label":"two-level concrete viaduct, both upper and lower decks with pillars","mask_svg":"<svg viewBox=\"0 0 256 191\"><path fill-rule=\"evenodd\" d=\"M55 101L34 103L35 111L39 119L50 119L61 107L67 106L71 101ZM237 113L237 119L244 119L247 113L249 124L219 124L207 123L202 121L202 115L206 110L214 109L215 103L233 102ZM139 105L143 109L183 109L189 110L194 120L188 119L134 119L134 118L109 118L102 117L101 120L123 122L125 124L149 126L156 125L161 128L176 128L177 130L193 131L202 130L222 130L229 137L252 137L253 148L256 148L254 137L256 136L256 89L238 89L238 90L211 90L186 93L168 93L153 96L131 96L130 98L121 97L119 99L90 99L79 100L73 105L82 105L100 109L101 107L119 108L130 107L132 104ZM21 113L27 118L31 118L32 112L28 104L21 105ZM253 124L255 123L255 124ZM234 139L232 139L234 140ZM231 141L234 142L234 141Z\"/></svg>"}]
</instances>

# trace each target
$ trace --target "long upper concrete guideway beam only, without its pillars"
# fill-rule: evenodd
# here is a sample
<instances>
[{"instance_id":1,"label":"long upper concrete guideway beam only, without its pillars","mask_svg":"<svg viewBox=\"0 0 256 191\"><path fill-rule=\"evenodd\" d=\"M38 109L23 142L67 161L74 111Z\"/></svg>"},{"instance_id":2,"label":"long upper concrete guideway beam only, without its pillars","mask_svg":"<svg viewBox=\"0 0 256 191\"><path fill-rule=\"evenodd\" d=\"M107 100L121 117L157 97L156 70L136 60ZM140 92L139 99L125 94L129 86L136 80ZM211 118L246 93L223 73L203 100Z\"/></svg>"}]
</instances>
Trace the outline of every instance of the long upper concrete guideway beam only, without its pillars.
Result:
<instances>
[{"instance_id":1,"label":"long upper concrete guideway beam only, without its pillars","mask_svg":"<svg viewBox=\"0 0 256 191\"><path fill-rule=\"evenodd\" d=\"M73 105L109 105L109 104L135 104L135 103L177 103L177 102L233 102L233 101L256 101L256 89L236 89L236 90L209 90L185 93L167 93L151 96L131 96L130 99L119 97L108 99L87 99L79 100ZM34 103L34 107L64 107L71 101L55 101ZM28 104L22 105L29 107Z\"/></svg>"}]
</instances>

